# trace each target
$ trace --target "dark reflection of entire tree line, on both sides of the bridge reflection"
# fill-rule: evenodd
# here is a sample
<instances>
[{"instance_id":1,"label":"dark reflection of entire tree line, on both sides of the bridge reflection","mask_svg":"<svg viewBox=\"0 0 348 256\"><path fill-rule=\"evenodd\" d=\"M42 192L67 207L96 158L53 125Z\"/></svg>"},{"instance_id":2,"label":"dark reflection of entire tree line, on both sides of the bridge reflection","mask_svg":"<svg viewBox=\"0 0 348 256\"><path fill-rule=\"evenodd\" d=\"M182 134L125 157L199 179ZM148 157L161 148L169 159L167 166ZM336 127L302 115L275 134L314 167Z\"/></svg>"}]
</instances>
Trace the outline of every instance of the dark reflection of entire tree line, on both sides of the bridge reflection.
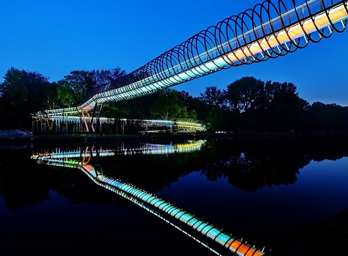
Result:
<instances>
[{"instance_id":1,"label":"dark reflection of entire tree line, on both sides of the bridge reflection","mask_svg":"<svg viewBox=\"0 0 348 256\"><path fill-rule=\"evenodd\" d=\"M100 158L104 175L159 191L180 177L201 171L209 180L227 178L233 186L254 191L293 184L310 161L347 156L347 136L233 138L209 140L201 151L168 155L116 155ZM0 196L17 210L49 199L49 191L74 203L109 203L115 198L72 168L36 164L31 149L2 151Z\"/></svg>"}]
</instances>

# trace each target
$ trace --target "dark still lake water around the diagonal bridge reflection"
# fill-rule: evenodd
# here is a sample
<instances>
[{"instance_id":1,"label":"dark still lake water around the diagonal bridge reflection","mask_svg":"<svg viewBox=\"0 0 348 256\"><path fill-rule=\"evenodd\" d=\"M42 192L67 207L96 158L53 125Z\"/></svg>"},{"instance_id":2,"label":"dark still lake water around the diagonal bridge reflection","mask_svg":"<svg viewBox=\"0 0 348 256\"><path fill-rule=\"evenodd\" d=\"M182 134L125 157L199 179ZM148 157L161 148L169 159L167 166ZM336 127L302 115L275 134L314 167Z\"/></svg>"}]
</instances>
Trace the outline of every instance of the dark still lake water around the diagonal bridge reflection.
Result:
<instances>
[{"instance_id":1,"label":"dark still lake water around the diagonal bridge reflection","mask_svg":"<svg viewBox=\"0 0 348 256\"><path fill-rule=\"evenodd\" d=\"M0 254L214 255L80 169L31 159L39 153L82 161L93 149L84 161L105 176L267 251L348 208L347 145L333 135L0 146Z\"/></svg>"}]
</instances>

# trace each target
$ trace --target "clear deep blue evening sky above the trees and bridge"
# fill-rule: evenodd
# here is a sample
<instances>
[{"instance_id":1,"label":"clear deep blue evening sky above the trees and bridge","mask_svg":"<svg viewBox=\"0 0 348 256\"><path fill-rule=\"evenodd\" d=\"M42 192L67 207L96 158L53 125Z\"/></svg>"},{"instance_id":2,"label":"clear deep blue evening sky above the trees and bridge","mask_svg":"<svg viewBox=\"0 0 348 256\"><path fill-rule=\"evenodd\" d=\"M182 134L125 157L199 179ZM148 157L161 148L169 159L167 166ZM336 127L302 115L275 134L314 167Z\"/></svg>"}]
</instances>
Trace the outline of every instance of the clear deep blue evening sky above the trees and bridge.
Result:
<instances>
[{"instance_id":1,"label":"clear deep blue evening sky above the trees and bridge","mask_svg":"<svg viewBox=\"0 0 348 256\"><path fill-rule=\"evenodd\" d=\"M11 67L36 71L51 82L73 70L120 67L130 73L258 3L262 1L0 1L0 82ZM293 82L309 103L347 106L347 41L348 29L295 53L232 67L172 89L198 97L206 87L226 89L236 79L254 76Z\"/></svg>"}]
</instances>

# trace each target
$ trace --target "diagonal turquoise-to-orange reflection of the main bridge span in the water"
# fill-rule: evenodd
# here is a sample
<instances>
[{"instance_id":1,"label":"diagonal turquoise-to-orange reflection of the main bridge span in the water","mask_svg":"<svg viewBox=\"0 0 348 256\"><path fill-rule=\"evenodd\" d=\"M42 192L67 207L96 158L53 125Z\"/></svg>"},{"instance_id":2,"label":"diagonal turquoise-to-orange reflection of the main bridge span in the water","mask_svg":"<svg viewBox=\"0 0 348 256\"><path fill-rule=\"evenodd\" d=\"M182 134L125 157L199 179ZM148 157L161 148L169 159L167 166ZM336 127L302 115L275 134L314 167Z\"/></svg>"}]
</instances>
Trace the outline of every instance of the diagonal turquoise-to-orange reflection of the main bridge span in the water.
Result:
<instances>
[{"instance_id":1,"label":"diagonal turquoise-to-orange reflection of the main bridge span in the water","mask_svg":"<svg viewBox=\"0 0 348 256\"><path fill-rule=\"evenodd\" d=\"M109 151L106 151L106 152L110 153ZM126 184L122 182L121 180L104 176L103 174L98 173L93 167L93 165L89 163L83 163L81 161L67 159L68 156L81 157L81 154L78 152L69 152L69 153L60 152L60 153L51 153L51 154L47 153L47 154L33 155L32 159L35 159L38 163L45 163L49 165L58 165L58 166L81 169L96 184L102 187L105 187L106 189L111 190L114 193L146 209L147 211L151 212L155 216L161 218L162 220L166 221L172 226L178 228L179 230L187 234L189 237L199 242L200 244L204 245L205 247L207 247L208 249L210 249L216 254L220 255L219 252L214 250L208 244L203 243L198 238L192 236L191 234L189 234L188 232L186 232L179 226L173 224L173 222L170 221L170 218L173 218L173 219L179 220L182 223L185 223L188 227L191 227L192 230L196 230L200 232L207 238L211 239L212 241L215 241L217 244L230 250L231 252L235 253L238 256L261 256L265 254L264 249L259 250L255 248L254 246L252 246L251 244L248 244L246 242L243 242L240 239L237 239L231 236L231 234L224 232L222 229L212 224L209 224L203 219L196 217L193 214L190 214L189 212L187 212L186 210L182 208L179 208L169 202L166 202L165 200L163 200L162 198L158 197L157 195L153 193L149 193L145 191L144 189L135 187L132 184L129 184L129 183ZM87 155L85 155L85 157L87 157ZM165 215L163 215L163 213Z\"/></svg>"}]
</instances>

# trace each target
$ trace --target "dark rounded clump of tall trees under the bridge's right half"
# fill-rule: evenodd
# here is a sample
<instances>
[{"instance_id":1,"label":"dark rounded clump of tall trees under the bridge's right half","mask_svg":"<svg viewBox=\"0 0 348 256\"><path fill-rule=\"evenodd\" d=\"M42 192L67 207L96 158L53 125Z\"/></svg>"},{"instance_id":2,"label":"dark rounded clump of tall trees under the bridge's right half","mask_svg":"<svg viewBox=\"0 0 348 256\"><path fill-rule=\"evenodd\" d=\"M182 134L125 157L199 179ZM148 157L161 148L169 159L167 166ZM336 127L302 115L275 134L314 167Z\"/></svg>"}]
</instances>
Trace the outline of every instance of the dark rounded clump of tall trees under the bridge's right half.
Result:
<instances>
[{"instance_id":1,"label":"dark rounded clump of tall trees under the bridge's right half","mask_svg":"<svg viewBox=\"0 0 348 256\"><path fill-rule=\"evenodd\" d=\"M309 103L293 83L242 77L227 86L224 105L236 113L234 131L290 132L305 129Z\"/></svg>"}]
</instances>

